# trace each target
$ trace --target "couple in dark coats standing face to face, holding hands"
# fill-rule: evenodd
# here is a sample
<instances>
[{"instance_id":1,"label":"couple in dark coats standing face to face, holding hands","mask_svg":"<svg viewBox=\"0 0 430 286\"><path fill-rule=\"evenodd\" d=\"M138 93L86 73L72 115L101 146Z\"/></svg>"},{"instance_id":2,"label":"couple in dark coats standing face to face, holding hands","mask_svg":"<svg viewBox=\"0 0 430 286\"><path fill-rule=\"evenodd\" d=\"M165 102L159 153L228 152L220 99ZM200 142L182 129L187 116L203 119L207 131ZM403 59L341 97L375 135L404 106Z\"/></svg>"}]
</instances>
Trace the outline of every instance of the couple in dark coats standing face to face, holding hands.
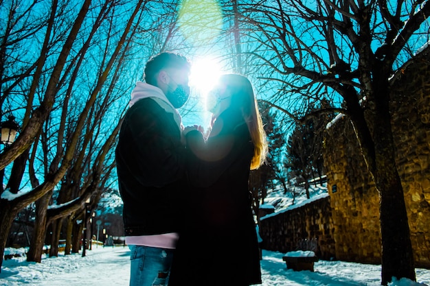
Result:
<instances>
[{"instance_id":1,"label":"couple in dark coats standing face to face, holding hands","mask_svg":"<svg viewBox=\"0 0 430 286\"><path fill-rule=\"evenodd\" d=\"M222 75L210 91L210 132L183 128L191 64L159 53L131 94L115 152L131 286L261 283L249 170L266 134L253 87ZM235 257L229 257L234 254Z\"/></svg>"}]
</instances>

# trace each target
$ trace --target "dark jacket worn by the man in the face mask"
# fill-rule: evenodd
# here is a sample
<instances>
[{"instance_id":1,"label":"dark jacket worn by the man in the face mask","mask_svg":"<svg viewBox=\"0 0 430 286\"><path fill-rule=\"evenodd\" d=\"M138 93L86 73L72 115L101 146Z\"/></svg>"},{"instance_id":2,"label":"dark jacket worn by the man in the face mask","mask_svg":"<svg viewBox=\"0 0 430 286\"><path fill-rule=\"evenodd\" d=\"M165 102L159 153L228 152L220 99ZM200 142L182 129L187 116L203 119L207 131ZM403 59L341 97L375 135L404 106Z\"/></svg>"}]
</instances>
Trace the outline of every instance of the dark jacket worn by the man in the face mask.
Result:
<instances>
[{"instance_id":1,"label":"dark jacket worn by the man in the face mask","mask_svg":"<svg viewBox=\"0 0 430 286\"><path fill-rule=\"evenodd\" d=\"M139 99L126 112L115 156L126 236L179 232L185 147L172 113Z\"/></svg>"}]
</instances>

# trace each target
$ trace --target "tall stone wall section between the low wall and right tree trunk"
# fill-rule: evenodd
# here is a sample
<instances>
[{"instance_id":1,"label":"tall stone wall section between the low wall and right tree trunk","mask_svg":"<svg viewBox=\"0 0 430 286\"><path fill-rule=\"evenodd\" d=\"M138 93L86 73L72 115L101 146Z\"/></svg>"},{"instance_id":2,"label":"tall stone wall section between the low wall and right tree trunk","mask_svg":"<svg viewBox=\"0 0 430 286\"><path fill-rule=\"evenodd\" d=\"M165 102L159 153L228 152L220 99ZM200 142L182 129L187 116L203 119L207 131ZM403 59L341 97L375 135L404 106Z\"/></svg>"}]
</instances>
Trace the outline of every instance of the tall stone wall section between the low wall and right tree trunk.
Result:
<instances>
[{"instance_id":1,"label":"tall stone wall section between the low wall and right tree trunk","mask_svg":"<svg viewBox=\"0 0 430 286\"><path fill-rule=\"evenodd\" d=\"M336 259L381 263L378 191L367 173L354 130L338 117L327 130L327 187L335 226Z\"/></svg>"}]
</instances>

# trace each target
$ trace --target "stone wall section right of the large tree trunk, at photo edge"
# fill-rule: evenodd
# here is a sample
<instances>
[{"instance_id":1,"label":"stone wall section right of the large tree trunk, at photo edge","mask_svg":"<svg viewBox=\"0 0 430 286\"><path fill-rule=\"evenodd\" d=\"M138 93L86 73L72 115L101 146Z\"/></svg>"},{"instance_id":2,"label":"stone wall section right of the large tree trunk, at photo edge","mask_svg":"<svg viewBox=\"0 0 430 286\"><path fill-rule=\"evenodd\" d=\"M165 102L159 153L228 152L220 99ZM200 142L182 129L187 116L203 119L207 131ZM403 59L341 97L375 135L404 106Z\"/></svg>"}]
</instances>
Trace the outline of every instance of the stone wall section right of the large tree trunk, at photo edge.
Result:
<instances>
[{"instance_id":1,"label":"stone wall section right of the large tree trunk, at photo edge","mask_svg":"<svg viewBox=\"0 0 430 286\"><path fill-rule=\"evenodd\" d=\"M430 51L394 85L396 161L418 266L430 267Z\"/></svg>"}]
</instances>

